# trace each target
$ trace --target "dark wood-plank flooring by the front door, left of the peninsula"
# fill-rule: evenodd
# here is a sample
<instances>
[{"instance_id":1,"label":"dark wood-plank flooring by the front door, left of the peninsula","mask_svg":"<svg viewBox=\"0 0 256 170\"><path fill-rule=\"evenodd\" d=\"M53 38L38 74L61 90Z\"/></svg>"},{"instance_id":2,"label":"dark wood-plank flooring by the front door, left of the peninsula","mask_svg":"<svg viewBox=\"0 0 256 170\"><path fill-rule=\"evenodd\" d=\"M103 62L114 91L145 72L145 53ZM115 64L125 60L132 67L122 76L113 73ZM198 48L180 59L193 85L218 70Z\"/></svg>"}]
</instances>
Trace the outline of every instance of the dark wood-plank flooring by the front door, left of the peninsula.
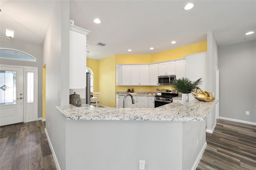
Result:
<instances>
[{"instance_id":1,"label":"dark wood-plank flooring by the front door, left of the peninsula","mask_svg":"<svg viewBox=\"0 0 256 170\"><path fill-rule=\"evenodd\" d=\"M0 127L0 170L56 170L45 122Z\"/></svg>"}]
</instances>

